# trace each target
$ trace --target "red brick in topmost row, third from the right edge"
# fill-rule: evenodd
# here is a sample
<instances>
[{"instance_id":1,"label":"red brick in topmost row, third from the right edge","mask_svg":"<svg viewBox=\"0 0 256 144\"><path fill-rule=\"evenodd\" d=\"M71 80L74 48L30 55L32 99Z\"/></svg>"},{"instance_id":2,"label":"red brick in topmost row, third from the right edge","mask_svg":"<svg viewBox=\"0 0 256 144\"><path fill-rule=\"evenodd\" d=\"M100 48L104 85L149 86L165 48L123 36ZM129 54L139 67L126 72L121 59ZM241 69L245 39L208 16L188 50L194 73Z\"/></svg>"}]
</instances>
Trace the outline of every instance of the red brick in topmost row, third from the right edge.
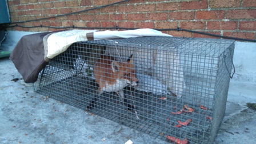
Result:
<instances>
[{"instance_id":1,"label":"red brick in topmost row, third from the right edge","mask_svg":"<svg viewBox=\"0 0 256 144\"><path fill-rule=\"evenodd\" d=\"M189 1L181 2L181 10L197 10L197 9L207 9L208 1Z\"/></svg>"}]
</instances>

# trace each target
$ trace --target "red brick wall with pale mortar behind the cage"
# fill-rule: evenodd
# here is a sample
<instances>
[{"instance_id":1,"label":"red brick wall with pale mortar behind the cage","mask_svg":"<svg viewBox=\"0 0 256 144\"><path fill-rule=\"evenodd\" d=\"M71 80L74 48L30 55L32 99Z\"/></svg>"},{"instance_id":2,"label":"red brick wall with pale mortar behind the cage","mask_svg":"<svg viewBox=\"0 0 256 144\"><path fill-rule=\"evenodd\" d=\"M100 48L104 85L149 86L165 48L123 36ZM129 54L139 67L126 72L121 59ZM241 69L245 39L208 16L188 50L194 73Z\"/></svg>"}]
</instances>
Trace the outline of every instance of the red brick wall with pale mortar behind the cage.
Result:
<instances>
[{"instance_id":1,"label":"red brick wall with pale mortar behind the cage","mask_svg":"<svg viewBox=\"0 0 256 144\"><path fill-rule=\"evenodd\" d=\"M121 0L9 0L11 22L52 17L108 5ZM16 24L13 24L16 25ZM61 27L129 27L189 29L255 39L256 0L130 0L63 17L17 23L18 31L55 31ZM29 26L59 27L31 27ZM163 31L182 37L210 37L186 31Z\"/></svg>"}]
</instances>

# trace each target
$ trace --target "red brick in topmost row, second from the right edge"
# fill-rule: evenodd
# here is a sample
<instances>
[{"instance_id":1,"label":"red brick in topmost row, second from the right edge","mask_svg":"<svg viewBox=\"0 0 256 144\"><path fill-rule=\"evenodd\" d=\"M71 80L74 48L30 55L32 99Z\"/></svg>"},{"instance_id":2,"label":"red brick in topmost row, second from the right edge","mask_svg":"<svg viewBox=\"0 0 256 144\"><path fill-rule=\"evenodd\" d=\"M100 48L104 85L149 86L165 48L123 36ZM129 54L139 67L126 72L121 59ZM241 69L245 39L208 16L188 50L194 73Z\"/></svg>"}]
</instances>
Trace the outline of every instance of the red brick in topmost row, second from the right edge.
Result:
<instances>
[{"instance_id":1,"label":"red brick in topmost row, second from the right edge","mask_svg":"<svg viewBox=\"0 0 256 144\"><path fill-rule=\"evenodd\" d=\"M222 7L240 7L241 0L210 0L209 6L211 8Z\"/></svg>"}]
</instances>

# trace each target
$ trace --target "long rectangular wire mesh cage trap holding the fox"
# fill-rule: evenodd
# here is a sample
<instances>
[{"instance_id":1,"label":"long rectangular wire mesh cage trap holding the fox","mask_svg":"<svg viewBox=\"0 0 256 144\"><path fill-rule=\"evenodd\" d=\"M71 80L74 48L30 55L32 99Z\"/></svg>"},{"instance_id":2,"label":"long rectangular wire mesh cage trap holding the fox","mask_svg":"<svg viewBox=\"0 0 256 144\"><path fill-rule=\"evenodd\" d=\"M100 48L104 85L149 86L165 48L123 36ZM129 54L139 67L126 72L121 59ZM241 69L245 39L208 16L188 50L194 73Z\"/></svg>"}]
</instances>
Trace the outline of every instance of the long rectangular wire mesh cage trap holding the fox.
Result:
<instances>
[{"instance_id":1,"label":"long rectangular wire mesh cage trap holding the fox","mask_svg":"<svg viewBox=\"0 0 256 144\"><path fill-rule=\"evenodd\" d=\"M178 37L77 42L39 73L34 90L164 141L169 135L213 143L225 114L234 45ZM111 56L104 65L97 60L102 55ZM133 75L138 86L127 84L136 81Z\"/></svg>"}]
</instances>

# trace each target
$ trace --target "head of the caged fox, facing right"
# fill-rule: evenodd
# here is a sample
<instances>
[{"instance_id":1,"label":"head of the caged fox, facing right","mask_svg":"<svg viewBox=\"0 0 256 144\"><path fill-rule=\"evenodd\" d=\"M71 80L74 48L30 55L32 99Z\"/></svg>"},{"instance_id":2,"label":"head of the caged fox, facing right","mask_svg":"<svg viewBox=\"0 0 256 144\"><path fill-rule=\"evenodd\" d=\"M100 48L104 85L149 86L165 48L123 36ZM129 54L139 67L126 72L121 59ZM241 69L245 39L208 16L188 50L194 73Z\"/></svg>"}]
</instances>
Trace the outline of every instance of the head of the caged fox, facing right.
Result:
<instances>
[{"instance_id":1,"label":"head of the caged fox, facing right","mask_svg":"<svg viewBox=\"0 0 256 144\"><path fill-rule=\"evenodd\" d=\"M127 85L138 86L138 79L133 65L133 54L126 62L112 61L111 67L113 72L118 75L119 80L126 81Z\"/></svg>"}]
</instances>

